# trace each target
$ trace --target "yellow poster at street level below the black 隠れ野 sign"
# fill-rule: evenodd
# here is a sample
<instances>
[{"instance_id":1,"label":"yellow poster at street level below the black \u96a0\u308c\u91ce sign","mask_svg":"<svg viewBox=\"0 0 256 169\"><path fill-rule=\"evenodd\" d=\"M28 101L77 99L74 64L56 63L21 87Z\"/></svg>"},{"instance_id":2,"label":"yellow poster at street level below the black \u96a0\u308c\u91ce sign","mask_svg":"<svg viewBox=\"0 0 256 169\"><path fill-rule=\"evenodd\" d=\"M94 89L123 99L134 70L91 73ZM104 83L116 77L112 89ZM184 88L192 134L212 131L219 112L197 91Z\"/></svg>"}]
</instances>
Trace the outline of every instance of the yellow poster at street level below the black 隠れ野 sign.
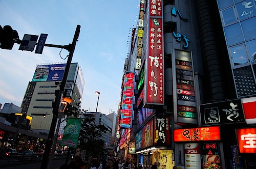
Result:
<instances>
[{"instance_id":1,"label":"yellow poster at street level below the black \u96a0\u308c\u91ce sign","mask_svg":"<svg viewBox=\"0 0 256 169\"><path fill-rule=\"evenodd\" d=\"M173 150L159 150L157 151L157 169L173 169L175 165L172 160Z\"/></svg>"}]
</instances>

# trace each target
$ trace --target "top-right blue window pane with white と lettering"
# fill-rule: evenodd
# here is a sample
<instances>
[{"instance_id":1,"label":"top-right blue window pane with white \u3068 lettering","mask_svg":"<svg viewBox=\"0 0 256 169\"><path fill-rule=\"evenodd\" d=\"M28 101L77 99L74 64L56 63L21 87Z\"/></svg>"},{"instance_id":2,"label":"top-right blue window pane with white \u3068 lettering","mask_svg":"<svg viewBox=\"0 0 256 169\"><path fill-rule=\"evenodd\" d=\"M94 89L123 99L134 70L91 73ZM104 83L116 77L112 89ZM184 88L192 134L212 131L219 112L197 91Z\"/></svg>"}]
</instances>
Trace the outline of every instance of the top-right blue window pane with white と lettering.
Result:
<instances>
[{"instance_id":1,"label":"top-right blue window pane with white \u3068 lettering","mask_svg":"<svg viewBox=\"0 0 256 169\"><path fill-rule=\"evenodd\" d=\"M236 7L237 7L238 16L240 20L244 20L256 15L255 6L252 0L249 2L244 1L242 3L239 3L236 5Z\"/></svg>"}]
</instances>

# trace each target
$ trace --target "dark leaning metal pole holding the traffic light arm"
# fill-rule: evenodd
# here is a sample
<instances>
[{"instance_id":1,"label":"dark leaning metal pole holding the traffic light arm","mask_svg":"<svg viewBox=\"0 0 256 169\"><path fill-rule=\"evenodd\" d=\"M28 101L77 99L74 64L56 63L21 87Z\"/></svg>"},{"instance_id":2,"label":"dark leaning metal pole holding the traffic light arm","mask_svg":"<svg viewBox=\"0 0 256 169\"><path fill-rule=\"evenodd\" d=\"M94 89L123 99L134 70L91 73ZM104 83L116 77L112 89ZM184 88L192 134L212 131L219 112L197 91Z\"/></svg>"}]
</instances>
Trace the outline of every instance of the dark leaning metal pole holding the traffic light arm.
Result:
<instances>
[{"instance_id":1,"label":"dark leaning metal pole holding the traffic light arm","mask_svg":"<svg viewBox=\"0 0 256 169\"><path fill-rule=\"evenodd\" d=\"M55 97L56 107L59 107L59 104L60 104L60 101L61 101L61 98L62 98L62 93L65 90L65 86L66 86L66 82L67 82L67 77L68 77L72 57L73 57L73 54L74 54L74 51L75 51L76 41L77 41L77 39L79 37L79 33L80 33L80 27L81 27L80 25L76 26L76 32L75 32L75 35L74 35L73 42L72 42L72 44L69 45L70 47L68 48L69 58L68 58L68 61L67 61L67 64L66 64L66 68L65 68L65 71L64 71L64 74L63 74L62 81L60 83L60 87L59 87L60 91L56 90L56 92L55 92L56 93L56 97ZM49 131L49 134L48 134L48 139L47 139L47 142L46 142L45 153L44 153L44 156L42 158L41 169L46 169L47 168L48 158L49 158L50 150L51 150L51 147L52 147L52 139L53 139L53 136L54 136L54 131L55 131L55 127L56 127L56 123L57 123L57 119L58 119L58 114L59 114L59 112L58 111L56 112L56 109L53 108L53 115L54 116L52 118L51 128L50 128L50 131ZM58 131L56 131L56 132L58 132ZM51 156L51 158L53 158L53 156Z\"/></svg>"}]
</instances>

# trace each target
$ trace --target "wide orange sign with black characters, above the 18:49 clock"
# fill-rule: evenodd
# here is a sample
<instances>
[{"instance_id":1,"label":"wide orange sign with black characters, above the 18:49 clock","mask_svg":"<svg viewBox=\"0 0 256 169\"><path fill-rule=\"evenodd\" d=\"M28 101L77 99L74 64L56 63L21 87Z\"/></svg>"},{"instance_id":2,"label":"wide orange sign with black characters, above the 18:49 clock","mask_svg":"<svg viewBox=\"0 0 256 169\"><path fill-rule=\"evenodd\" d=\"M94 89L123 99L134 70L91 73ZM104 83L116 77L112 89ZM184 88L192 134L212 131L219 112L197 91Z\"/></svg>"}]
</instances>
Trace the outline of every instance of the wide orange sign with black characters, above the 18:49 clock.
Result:
<instances>
[{"instance_id":1,"label":"wide orange sign with black characters, above the 18:49 clock","mask_svg":"<svg viewBox=\"0 0 256 169\"><path fill-rule=\"evenodd\" d=\"M174 142L210 141L220 139L219 126L174 129Z\"/></svg>"}]
</instances>

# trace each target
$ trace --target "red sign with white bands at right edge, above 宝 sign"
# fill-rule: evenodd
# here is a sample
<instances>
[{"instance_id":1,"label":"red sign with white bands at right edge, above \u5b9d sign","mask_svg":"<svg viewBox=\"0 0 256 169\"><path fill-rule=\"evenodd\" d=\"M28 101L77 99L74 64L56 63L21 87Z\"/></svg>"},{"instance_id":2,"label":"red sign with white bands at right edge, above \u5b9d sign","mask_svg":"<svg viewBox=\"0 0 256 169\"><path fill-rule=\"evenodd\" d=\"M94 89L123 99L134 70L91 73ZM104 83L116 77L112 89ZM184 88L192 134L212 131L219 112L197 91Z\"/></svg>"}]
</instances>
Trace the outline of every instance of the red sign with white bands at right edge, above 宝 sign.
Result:
<instances>
[{"instance_id":1,"label":"red sign with white bands at right edge, above \u5b9d sign","mask_svg":"<svg viewBox=\"0 0 256 169\"><path fill-rule=\"evenodd\" d=\"M256 123L256 97L242 99L244 117L247 124Z\"/></svg>"}]
</instances>

